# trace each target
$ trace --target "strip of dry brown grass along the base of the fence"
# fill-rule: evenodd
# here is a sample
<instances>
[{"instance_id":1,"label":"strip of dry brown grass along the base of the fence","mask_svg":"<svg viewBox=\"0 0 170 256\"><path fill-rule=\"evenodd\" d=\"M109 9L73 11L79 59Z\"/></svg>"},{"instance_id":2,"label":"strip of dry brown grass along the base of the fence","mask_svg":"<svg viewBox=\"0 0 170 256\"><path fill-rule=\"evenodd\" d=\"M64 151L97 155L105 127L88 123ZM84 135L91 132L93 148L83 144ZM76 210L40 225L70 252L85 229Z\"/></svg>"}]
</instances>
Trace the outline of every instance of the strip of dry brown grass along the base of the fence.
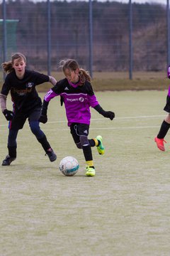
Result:
<instances>
[{"instance_id":1,"label":"strip of dry brown grass along the base of the fence","mask_svg":"<svg viewBox=\"0 0 170 256\"><path fill-rule=\"evenodd\" d=\"M46 73L46 72L44 72ZM52 73L57 80L64 78L60 72ZM165 72L135 72L132 80L128 72L95 72L91 84L95 91L103 90L166 90L169 80ZM0 87L2 79L0 80ZM46 92L51 85L49 83L38 86L39 92Z\"/></svg>"}]
</instances>

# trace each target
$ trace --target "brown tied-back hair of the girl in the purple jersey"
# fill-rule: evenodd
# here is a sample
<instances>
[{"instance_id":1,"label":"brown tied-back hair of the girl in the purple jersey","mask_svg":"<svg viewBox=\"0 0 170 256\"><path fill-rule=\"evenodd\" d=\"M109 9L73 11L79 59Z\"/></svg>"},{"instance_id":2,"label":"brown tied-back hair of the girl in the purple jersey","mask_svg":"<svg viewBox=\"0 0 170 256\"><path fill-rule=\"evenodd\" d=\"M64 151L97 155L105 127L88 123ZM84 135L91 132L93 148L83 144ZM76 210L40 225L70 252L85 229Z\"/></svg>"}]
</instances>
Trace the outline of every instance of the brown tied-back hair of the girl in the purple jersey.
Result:
<instances>
[{"instance_id":1,"label":"brown tied-back hair of the girl in the purple jersey","mask_svg":"<svg viewBox=\"0 0 170 256\"><path fill-rule=\"evenodd\" d=\"M79 64L74 59L60 60L60 68L62 68L63 73L65 73L66 69L75 71L78 68L81 83L84 84L85 80L88 80L89 82L91 81L89 72L84 70L83 68L79 68Z\"/></svg>"}]
</instances>

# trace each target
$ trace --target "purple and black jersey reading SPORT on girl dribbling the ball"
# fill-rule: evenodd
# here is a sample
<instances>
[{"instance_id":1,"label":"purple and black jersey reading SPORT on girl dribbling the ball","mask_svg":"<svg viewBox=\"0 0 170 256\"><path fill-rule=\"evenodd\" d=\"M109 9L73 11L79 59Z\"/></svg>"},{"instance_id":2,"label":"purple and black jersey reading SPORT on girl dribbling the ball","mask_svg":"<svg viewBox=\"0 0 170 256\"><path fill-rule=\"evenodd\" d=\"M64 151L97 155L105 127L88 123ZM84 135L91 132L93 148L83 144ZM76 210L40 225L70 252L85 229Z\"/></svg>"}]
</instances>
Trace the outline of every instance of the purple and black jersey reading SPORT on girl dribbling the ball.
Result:
<instances>
[{"instance_id":1,"label":"purple and black jersey reading SPORT on girl dribbling the ball","mask_svg":"<svg viewBox=\"0 0 170 256\"><path fill-rule=\"evenodd\" d=\"M50 102L53 97L58 95L62 97L64 102L68 126L74 122L90 124L90 107L98 105L90 82L86 81L84 85L75 87L70 85L68 80L64 78L47 92L44 100Z\"/></svg>"}]
</instances>

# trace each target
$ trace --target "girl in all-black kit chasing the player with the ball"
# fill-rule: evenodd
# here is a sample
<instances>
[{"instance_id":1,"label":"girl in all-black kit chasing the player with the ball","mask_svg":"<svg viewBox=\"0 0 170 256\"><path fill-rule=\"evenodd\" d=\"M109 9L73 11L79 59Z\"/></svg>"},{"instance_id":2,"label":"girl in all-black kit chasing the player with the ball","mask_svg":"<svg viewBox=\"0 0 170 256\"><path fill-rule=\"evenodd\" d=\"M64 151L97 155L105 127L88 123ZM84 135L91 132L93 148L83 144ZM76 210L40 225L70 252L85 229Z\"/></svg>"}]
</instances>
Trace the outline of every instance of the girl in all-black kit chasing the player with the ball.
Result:
<instances>
[{"instance_id":1,"label":"girl in all-black kit chasing the player with the ball","mask_svg":"<svg viewBox=\"0 0 170 256\"><path fill-rule=\"evenodd\" d=\"M39 126L38 119L42 102L35 86L42 82L51 82L52 85L55 85L57 81L51 76L26 70L26 57L22 53L15 53L11 61L2 63L2 68L7 75L1 89L0 104L6 120L9 121L8 155L2 162L2 166L9 166L11 161L16 159L18 130L23 128L27 118L31 132L42 145L50 161L55 161L57 156ZM6 109L6 98L9 91L11 92L13 111Z\"/></svg>"}]
</instances>

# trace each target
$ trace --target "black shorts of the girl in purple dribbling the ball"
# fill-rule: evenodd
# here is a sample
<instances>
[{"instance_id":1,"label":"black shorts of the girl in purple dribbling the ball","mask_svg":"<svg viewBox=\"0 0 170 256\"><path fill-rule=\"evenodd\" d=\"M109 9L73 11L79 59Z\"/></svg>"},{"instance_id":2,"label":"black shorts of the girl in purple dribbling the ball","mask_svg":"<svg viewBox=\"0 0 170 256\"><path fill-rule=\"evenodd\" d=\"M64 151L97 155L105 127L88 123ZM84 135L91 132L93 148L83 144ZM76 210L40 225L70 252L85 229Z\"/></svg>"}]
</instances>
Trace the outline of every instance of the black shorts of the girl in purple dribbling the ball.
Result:
<instances>
[{"instance_id":1,"label":"black shorts of the girl in purple dribbling the ball","mask_svg":"<svg viewBox=\"0 0 170 256\"><path fill-rule=\"evenodd\" d=\"M70 132L72 134L74 142L77 144L77 143L80 142L80 140L79 140L80 136L88 137L88 135L89 135L89 124L73 123L70 126Z\"/></svg>"}]
</instances>

